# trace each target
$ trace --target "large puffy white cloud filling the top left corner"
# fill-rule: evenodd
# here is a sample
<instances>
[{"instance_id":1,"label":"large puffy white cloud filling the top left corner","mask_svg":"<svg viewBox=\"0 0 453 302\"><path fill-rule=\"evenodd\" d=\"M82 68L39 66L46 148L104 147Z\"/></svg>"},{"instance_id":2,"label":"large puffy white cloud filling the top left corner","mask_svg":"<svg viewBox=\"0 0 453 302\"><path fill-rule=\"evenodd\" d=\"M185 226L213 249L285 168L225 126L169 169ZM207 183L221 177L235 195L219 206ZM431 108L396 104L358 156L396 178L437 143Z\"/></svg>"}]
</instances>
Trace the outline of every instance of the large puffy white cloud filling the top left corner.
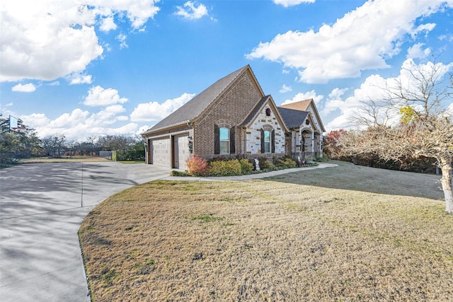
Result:
<instances>
[{"instance_id":1,"label":"large puffy white cloud filling the top left corner","mask_svg":"<svg viewBox=\"0 0 453 302\"><path fill-rule=\"evenodd\" d=\"M0 81L52 81L82 72L101 56L96 26L113 30L113 16L140 30L159 11L155 0L18 0L0 4Z\"/></svg>"}]
</instances>

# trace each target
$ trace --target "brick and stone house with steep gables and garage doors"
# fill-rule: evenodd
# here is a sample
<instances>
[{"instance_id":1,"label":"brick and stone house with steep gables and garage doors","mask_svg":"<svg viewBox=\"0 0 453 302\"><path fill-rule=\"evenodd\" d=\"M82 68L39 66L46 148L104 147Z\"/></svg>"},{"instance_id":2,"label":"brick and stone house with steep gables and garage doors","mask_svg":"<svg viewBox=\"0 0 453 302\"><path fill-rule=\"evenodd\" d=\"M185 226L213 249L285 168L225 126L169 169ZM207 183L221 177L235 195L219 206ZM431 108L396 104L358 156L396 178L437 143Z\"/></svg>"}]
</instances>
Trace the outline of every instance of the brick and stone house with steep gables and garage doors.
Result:
<instances>
[{"instance_id":1,"label":"brick and stone house with steep gables and garage doors","mask_svg":"<svg viewBox=\"0 0 453 302\"><path fill-rule=\"evenodd\" d=\"M324 131L313 100L277 108L247 65L213 83L142 137L147 163L186 169L191 154L207 159L322 156Z\"/></svg>"}]
</instances>

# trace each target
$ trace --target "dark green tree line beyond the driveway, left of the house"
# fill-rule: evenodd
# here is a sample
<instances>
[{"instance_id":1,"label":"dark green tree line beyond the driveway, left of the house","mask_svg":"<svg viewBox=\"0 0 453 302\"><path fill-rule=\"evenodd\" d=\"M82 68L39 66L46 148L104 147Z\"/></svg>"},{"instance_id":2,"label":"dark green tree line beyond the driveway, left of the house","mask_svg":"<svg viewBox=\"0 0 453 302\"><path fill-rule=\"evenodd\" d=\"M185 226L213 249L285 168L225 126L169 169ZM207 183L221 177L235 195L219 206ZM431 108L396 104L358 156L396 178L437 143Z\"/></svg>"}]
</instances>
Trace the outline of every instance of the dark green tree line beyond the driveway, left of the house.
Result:
<instances>
[{"instance_id":1,"label":"dark green tree line beyond the driveway, left of the house","mask_svg":"<svg viewBox=\"0 0 453 302\"><path fill-rule=\"evenodd\" d=\"M0 166L19 163L24 158L99 156L100 151L116 151L117 161L144 161L145 145L141 137L105 135L72 141L64 134L38 137L35 129L18 119L18 128L8 131L8 117L0 115Z\"/></svg>"}]
</instances>

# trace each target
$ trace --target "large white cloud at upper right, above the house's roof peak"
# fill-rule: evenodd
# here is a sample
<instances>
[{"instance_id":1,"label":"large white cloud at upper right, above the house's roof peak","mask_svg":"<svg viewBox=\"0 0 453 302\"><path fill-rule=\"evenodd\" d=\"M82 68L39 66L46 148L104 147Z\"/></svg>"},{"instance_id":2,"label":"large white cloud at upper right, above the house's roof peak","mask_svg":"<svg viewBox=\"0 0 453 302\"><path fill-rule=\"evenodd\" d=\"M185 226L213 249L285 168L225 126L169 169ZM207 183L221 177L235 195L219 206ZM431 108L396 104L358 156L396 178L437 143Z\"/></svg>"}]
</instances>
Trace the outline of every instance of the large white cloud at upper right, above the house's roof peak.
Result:
<instances>
[{"instance_id":1,"label":"large white cloud at upper right, above the house's roof peak","mask_svg":"<svg viewBox=\"0 0 453 302\"><path fill-rule=\"evenodd\" d=\"M289 30L270 42L260 42L246 57L297 69L300 81L306 83L357 77L365 69L387 68L386 59L401 52L401 42L408 35L432 30L432 23L414 27L414 21L435 13L443 2L367 1L333 25L322 25L317 32Z\"/></svg>"}]
</instances>

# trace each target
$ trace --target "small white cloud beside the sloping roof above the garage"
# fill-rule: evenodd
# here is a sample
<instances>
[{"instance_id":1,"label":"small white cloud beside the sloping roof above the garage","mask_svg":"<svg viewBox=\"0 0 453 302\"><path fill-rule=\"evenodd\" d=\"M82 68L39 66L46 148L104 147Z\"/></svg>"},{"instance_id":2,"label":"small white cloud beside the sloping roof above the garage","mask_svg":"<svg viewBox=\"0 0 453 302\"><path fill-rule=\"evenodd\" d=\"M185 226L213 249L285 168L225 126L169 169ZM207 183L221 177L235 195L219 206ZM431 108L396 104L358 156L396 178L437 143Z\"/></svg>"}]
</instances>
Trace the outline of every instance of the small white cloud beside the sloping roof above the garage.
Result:
<instances>
[{"instance_id":1,"label":"small white cloud beside the sloping roof above the garage","mask_svg":"<svg viewBox=\"0 0 453 302\"><path fill-rule=\"evenodd\" d=\"M187 103L195 96L195 93L183 93L178 98L168 99L164 103L149 102L137 105L130 120L132 122L155 122L164 119L176 109Z\"/></svg>"}]
</instances>

